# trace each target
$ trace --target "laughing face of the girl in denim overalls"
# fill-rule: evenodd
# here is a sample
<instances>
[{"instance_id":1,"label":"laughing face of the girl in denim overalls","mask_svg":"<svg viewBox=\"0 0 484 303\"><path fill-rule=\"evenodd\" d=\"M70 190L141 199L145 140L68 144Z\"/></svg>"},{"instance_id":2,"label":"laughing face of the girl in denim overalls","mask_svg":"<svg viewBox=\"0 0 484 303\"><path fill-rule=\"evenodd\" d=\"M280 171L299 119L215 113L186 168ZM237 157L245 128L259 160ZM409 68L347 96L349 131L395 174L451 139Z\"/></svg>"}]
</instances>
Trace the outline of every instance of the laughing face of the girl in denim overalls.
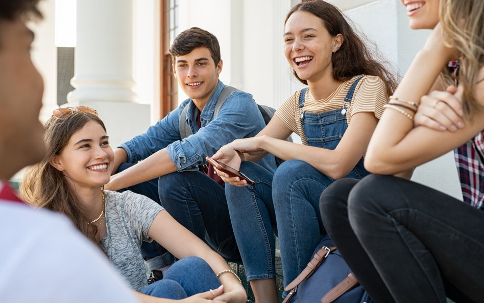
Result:
<instances>
[{"instance_id":1,"label":"laughing face of the girl in denim overalls","mask_svg":"<svg viewBox=\"0 0 484 303\"><path fill-rule=\"evenodd\" d=\"M323 21L306 11L296 11L284 26L284 55L300 79L316 82L332 77L331 56L343 43L332 37Z\"/></svg>"}]
</instances>

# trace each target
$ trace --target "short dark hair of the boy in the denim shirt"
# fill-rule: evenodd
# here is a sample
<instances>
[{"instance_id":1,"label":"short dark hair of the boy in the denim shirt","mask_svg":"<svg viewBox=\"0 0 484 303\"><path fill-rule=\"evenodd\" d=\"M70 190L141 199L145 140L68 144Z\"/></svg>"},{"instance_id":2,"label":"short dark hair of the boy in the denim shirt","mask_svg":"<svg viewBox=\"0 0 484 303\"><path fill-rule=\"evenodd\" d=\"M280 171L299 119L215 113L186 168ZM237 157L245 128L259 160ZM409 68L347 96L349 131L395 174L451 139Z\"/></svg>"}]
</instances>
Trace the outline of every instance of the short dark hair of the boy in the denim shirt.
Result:
<instances>
[{"instance_id":1,"label":"short dark hair of the boy in the denim shirt","mask_svg":"<svg viewBox=\"0 0 484 303\"><path fill-rule=\"evenodd\" d=\"M183 56L196 48L204 47L210 51L215 65L220 62L219 40L209 32L200 28L191 28L178 34L170 48L173 62L176 56Z\"/></svg>"}]
</instances>

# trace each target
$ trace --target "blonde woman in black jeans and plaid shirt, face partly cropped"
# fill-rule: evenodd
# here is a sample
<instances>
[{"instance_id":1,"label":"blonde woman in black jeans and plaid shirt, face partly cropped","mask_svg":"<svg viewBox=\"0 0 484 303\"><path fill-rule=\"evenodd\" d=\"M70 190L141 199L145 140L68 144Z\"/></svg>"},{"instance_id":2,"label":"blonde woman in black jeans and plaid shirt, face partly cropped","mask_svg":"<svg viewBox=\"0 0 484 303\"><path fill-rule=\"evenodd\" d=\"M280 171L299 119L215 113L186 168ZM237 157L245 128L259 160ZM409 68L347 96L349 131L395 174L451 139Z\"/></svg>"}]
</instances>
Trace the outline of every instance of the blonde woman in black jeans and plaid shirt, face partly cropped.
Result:
<instances>
[{"instance_id":1,"label":"blonde woman in black jeans and plaid shirt, face partly cropped","mask_svg":"<svg viewBox=\"0 0 484 303\"><path fill-rule=\"evenodd\" d=\"M402 4L412 28L433 31L370 141L365 167L380 175L333 183L321 215L375 302L484 302L484 2ZM449 65L458 87L429 92ZM452 150L463 201L392 176Z\"/></svg>"}]
</instances>

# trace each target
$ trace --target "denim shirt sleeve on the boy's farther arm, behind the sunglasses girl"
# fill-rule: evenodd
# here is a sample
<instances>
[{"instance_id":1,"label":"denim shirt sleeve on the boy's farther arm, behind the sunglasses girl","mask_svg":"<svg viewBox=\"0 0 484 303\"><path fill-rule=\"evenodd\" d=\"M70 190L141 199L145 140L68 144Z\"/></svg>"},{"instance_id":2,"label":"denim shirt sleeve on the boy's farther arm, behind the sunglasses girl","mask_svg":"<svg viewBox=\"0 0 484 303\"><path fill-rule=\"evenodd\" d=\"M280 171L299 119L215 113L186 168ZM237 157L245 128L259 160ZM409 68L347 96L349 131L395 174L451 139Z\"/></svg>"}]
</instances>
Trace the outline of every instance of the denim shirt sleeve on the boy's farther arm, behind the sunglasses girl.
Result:
<instances>
[{"instance_id":1,"label":"denim shirt sleeve on the boy's farther arm, behind the sunglasses girl","mask_svg":"<svg viewBox=\"0 0 484 303\"><path fill-rule=\"evenodd\" d=\"M185 102L184 102L185 103ZM155 152L180 140L178 112L182 107L169 112L165 118L150 126L148 130L120 145L128 154L128 162L136 163Z\"/></svg>"}]
</instances>

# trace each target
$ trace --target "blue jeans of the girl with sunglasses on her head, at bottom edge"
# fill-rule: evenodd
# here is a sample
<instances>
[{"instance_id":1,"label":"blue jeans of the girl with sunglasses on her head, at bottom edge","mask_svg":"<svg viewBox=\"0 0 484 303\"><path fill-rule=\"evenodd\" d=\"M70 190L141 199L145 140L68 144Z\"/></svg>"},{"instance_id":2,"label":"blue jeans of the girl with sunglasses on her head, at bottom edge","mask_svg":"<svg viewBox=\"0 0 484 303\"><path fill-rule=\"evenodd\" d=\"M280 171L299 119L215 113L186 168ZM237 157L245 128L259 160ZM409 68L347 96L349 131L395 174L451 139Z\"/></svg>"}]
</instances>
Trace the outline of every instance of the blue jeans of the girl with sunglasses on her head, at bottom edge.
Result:
<instances>
[{"instance_id":1,"label":"blue jeans of the girl with sunglasses on her head, at bottom edge","mask_svg":"<svg viewBox=\"0 0 484 303\"><path fill-rule=\"evenodd\" d=\"M175 262L163 279L144 287L140 292L180 300L219 286L219 279L207 262L198 257L188 257Z\"/></svg>"}]
</instances>

